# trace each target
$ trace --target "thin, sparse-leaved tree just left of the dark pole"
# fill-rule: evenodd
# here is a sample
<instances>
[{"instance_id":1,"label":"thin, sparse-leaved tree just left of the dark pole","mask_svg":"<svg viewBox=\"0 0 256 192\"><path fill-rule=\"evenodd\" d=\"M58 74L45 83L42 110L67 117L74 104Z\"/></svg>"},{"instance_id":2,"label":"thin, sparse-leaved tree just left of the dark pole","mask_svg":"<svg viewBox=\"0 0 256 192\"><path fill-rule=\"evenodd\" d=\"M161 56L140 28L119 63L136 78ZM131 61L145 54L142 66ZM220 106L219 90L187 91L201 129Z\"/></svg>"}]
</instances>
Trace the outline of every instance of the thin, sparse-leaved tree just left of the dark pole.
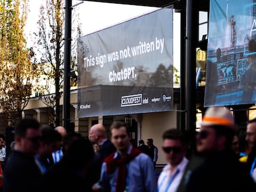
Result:
<instances>
[{"instance_id":1,"label":"thin, sparse-leaved tree just left of the dark pole","mask_svg":"<svg viewBox=\"0 0 256 192\"><path fill-rule=\"evenodd\" d=\"M64 86L64 10L63 0L43 1L38 20L39 31L35 33L37 51L40 56L38 61L41 69L40 77L43 78L43 85L38 85L37 88L44 95L41 101L51 111L49 123L54 123L56 126L61 124L60 99ZM74 31L76 35L80 35L80 25L77 25ZM76 69L76 52L74 52L72 68ZM71 82L76 84L74 80Z\"/></svg>"}]
</instances>

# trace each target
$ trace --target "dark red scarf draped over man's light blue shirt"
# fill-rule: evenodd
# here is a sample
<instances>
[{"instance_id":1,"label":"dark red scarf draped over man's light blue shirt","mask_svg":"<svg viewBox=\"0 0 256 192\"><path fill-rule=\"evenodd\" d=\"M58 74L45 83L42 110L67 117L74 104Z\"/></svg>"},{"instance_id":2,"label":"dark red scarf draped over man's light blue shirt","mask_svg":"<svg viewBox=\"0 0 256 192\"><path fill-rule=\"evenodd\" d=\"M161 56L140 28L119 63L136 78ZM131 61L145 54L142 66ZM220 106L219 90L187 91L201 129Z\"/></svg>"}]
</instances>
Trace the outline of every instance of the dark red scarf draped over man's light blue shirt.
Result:
<instances>
[{"instance_id":1,"label":"dark red scarf draped over man's light blue shirt","mask_svg":"<svg viewBox=\"0 0 256 192\"><path fill-rule=\"evenodd\" d=\"M139 149L132 148L130 154L127 154L126 157L122 157L121 159L114 159L114 152L104 159L104 162L106 162L106 168L108 173L113 173L115 168L118 167L116 192L124 192L126 188L127 176L126 164L132 161L132 159L137 157L140 153L141 151Z\"/></svg>"}]
</instances>

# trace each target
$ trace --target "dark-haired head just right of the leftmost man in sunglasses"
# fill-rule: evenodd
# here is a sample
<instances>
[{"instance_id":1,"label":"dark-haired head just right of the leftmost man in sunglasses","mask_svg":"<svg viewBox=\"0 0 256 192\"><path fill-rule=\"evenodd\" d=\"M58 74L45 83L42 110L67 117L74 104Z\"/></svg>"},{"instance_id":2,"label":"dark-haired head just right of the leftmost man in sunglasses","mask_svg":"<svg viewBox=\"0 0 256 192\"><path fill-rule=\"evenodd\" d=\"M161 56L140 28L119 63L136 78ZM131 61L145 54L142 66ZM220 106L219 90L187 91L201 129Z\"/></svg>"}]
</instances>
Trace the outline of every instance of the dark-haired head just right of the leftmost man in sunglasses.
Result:
<instances>
[{"instance_id":1,"label":"dark-haired head just right of the leftmost man in sunglasses","mask_svg":"<svg viewBox=\"0 0 256 192\"><path fill-rule=\"evenodd\" d=\"M53 128L42 128L40 138L40 148L38 156L49 157L54 151L57 151L62 141L61 134Z\"/></svg>"}]
</instances>

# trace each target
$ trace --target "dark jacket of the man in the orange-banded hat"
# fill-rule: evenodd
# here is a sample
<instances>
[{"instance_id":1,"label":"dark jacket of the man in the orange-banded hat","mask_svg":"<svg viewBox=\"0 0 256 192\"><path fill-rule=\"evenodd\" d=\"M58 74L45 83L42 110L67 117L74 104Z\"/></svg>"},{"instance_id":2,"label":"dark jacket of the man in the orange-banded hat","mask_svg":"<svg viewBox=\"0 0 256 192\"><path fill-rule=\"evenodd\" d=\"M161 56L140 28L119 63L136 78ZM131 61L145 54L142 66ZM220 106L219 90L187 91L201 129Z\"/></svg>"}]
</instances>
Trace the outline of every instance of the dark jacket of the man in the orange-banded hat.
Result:
<instances>
[{"instance_id":1,"label":"dark jacket of the man in the orange-banded hat","mask_svg":"<svg viewBox=\"0 0 256 192\"><path fill-rule=\"evenodd\" d=\"M256 191L256 184L233 152L194 156L182 178L178 192Z\"/></svg>"}]
</instances>

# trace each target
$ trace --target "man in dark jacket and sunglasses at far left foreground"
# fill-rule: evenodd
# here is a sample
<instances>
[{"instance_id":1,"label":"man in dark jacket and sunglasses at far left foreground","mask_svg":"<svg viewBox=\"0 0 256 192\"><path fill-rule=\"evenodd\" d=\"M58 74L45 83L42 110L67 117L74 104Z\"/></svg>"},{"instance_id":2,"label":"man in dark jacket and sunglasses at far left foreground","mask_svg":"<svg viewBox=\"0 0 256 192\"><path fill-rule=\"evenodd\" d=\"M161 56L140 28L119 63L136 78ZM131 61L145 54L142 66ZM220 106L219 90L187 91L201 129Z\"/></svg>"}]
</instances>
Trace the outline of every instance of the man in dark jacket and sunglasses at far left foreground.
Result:
<instances>
[{"instance_id":1,"label":"man in dark jacket and sunglasses at far left foreground","mask_svg":"<svg viewBox=\"0 0 256 192\"><path fill-rule=\"evenodd\" d=\"M22 119L15 127L15 148L4 169L4 191L35 192L41 188L41 172L35 163L40 123Z\"/></svg>"}]
</instances>

